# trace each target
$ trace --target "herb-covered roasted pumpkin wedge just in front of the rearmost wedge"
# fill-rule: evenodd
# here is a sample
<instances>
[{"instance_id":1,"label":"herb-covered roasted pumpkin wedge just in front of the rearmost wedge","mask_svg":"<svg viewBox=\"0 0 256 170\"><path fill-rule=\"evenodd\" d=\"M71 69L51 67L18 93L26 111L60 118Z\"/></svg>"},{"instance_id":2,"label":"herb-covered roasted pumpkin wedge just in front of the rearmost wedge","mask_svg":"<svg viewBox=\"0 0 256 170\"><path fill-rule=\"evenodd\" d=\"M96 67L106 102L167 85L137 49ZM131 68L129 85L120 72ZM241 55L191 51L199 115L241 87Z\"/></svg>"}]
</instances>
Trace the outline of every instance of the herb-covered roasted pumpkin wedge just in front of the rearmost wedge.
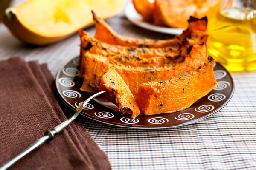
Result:
<instances>
[{"instance_id":1,"label":"herb-covered roasted pumpkin wedge just in front of the rearmost wedge","mask_svg":"<svg viewBox=\"0 0 256 170\"><path fill-rule=\"evenodd\" d=\"M183 39L183 41L179 42L175 47L132 48L119 45L109 45L104 42L100 42L91 37L85 31L79 31L79 36L81 38L80 61L81 57L86 52L90 52L92 54L106 56L110 60L114 59L116 62L134 67L148 67L152 65L162 67L164 64L182 62L180 51L184 41L188 41L191 45L203 43L198 39ZM82 62L78 75L79 77L83 77L84 67L85 66Z\"/></svg>"}]
</instances>

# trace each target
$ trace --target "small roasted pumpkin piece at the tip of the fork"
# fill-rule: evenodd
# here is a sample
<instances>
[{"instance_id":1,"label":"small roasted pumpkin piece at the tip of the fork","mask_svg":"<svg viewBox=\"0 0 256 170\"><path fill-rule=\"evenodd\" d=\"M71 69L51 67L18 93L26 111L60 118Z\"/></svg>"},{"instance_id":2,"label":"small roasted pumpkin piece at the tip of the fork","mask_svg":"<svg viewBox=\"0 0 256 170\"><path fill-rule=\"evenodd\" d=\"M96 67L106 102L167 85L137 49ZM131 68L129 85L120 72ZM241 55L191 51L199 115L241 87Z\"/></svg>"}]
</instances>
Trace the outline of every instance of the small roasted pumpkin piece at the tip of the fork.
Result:
<instances>
[{"instance_id":1,"label":"small roasted pumpkin piece at the tip of the fork","mask_svg":"<svg viewBox=\"0 0 256 170\"><path fill-rule=\"evenodd\" d=\"M105 96L109 102L114 103L121 115L130 112L131 118L140 114L140 110L135 102L134 95L115 68L108 68L102 72L99 91L108 91Z\"/></svg>"}]
</instances>

